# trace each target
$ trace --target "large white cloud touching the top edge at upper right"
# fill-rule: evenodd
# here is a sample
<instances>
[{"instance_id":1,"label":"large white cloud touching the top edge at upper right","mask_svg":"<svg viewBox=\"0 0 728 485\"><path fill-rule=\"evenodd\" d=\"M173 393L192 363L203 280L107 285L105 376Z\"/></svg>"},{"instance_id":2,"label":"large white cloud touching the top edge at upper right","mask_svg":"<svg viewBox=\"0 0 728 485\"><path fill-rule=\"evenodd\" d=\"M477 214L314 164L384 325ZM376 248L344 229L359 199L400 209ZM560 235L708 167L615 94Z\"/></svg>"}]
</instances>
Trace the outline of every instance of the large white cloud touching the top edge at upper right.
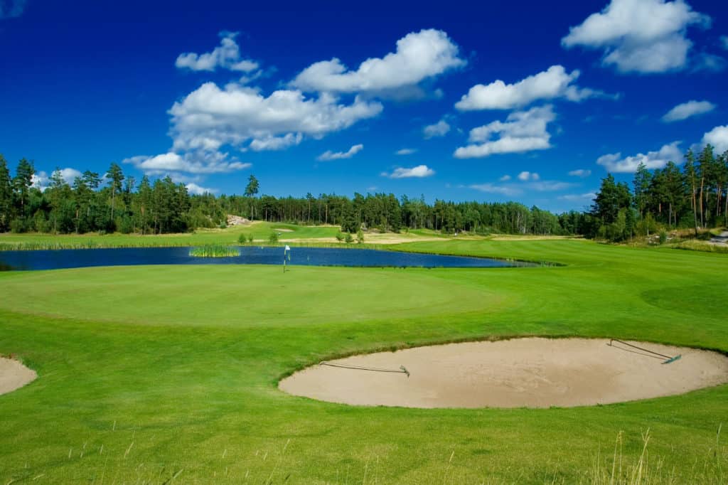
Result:
<instances>
[{"instance_id":1,"label":"large white cloud touching the top edge at upper right","mask_svg":"<svg viewBox=\"0 0 728 485\"><path fill-rule=\"evenodd\" d=\"M687 28L710 23L684 0L612 0L571 27L561 44L602 50L602 63L618 71L660 73L687 66L692 48Z\"/></svg>"}]
</instances>

